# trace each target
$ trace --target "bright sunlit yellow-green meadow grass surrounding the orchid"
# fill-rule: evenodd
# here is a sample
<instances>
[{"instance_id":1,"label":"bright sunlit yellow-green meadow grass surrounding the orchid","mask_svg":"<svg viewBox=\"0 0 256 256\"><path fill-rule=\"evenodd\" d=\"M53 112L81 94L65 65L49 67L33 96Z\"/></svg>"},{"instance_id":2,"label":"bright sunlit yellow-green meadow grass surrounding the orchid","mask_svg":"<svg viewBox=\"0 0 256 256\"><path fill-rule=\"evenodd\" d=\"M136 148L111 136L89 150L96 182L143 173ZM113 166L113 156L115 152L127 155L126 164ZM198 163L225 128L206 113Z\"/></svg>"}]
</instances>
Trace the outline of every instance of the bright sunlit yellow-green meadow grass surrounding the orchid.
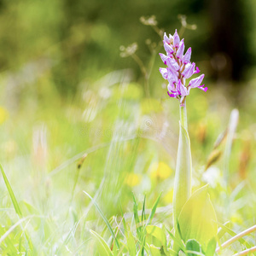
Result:
<instances>
[{"instance_id":1,"label":"bright sunlit yellow-green meadow grass surrounding the orchid","mask_svg":"<svg viewBox=\"0 0 256 256\"><path fill-rule=\"evenodd\" d=\"M33 99L3 122L2 255L158 255L163 243L162 253L169 248L172 255L176 102L145 103L143 89L129 81L107 85L81 89L67 102L55 94L46 108L44 99ZM198 109L198 101L206 108ZM212 102L191 96L189 134L193 190L209 183L221 245L255 225L253 110L239 108L230 154L230 140L223 140L222 155L207 166L232 110L227 100L225 108ZM250 247L253 232L219 252Z\"/></svg>"}]
</instances>

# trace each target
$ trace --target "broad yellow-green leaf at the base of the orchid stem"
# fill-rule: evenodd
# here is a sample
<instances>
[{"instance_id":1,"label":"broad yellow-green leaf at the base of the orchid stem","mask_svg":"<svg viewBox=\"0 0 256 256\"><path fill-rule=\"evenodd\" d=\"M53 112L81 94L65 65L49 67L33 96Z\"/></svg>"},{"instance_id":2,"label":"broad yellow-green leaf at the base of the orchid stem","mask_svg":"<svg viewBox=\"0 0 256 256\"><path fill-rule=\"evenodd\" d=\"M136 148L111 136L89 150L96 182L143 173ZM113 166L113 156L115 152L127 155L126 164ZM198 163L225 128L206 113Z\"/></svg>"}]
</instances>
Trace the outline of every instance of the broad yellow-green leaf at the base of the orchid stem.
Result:
<instances>
[{"instance_id":1,"label":"broad yellow-green leaf at the base of the orchid stem","mask_svg":"<svg viewBox=\"0 0 256 256\"><path fill-rule=\"evenodd\" d=\"M208 186L204 186L196 190L178 218L183 241L195 239L201 244L204 252L207 251L208 242L217 236L218 231L216 214L207 189Z\"/></svg>"}]
</instances>

